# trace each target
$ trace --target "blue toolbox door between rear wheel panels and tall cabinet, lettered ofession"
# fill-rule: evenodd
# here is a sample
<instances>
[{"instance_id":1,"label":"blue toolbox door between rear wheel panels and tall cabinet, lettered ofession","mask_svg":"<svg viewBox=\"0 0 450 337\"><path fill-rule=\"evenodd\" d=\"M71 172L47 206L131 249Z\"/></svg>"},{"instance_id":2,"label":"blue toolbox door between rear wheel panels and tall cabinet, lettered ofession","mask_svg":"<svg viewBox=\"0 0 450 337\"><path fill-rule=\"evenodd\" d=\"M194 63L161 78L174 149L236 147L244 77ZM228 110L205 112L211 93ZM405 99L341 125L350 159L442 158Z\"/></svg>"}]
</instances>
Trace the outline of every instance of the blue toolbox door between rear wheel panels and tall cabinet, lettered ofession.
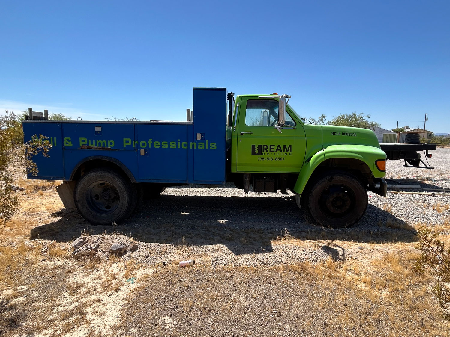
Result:
<instances>
[{"instance_id":1,"label":"blue toolbox door between rear wheel panels and tall cabinet, lettered ofession","mask_svg":"<svg viewBox=\"0 0 450 337\"><path fill-rule=\"evenodd\" d=\"M139 179L188 182L187 127L187 124L136 124Z\"/></svg>"}]
</instances>

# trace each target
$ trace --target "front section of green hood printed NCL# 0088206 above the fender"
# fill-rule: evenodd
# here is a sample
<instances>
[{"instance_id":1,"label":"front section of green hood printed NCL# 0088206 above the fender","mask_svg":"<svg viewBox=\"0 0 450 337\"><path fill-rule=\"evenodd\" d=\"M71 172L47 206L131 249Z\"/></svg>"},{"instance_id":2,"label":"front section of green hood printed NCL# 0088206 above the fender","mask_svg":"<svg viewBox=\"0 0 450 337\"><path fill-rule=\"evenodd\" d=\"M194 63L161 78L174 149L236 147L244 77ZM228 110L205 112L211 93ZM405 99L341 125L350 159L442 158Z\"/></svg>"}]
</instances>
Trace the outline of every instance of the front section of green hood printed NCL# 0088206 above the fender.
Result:
<instances>
[{"instance_id":1,"label":"front section of green hood printed NCL# 0088206 above the fender","mask_svg":"<svg viewBox=\"0 0 450 337\"><path fill-rule=\"evenodd\" d=\"M322 125L322 145L366 145L380 148L374 131L348 126Z\"/></svg>"}]
</instances>

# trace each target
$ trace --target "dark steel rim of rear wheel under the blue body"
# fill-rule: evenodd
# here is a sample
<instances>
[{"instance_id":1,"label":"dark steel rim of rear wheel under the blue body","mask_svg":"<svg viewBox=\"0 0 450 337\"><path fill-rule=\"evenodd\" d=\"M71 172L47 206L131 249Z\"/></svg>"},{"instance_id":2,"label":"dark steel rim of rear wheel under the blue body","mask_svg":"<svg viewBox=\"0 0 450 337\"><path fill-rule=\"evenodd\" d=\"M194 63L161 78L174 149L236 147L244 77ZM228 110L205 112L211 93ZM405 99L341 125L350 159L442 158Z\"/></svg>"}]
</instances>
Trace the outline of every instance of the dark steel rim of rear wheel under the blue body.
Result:
<instances>
[{"instance_id":1,"label":"dark steel rim of rear wheel under the blue body","mask_svg":"<svg viewBox=\"0 0 450 337\"><path fill-rule=\"evenodd\" d=\"M98 214L114 212L120 202L117 188L106 181L97 181L88 187L87 204Z\"/></svg>"}]
</instances>

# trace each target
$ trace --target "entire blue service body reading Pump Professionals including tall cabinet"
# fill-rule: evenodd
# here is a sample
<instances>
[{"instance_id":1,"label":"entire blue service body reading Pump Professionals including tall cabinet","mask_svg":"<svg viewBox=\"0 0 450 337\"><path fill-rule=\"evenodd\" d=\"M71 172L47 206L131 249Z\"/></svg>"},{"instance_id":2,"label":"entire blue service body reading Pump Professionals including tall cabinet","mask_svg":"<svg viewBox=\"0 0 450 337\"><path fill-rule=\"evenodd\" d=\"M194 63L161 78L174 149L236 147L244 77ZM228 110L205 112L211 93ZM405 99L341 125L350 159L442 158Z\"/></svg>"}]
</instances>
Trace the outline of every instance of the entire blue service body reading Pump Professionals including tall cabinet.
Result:
<instances>
[{"instance_id":1,"label":"entire blue service body reading Pump Professionals including tall cabinet","mask_svg":"<svg viewBox=\"0 0 450 337\"><path fill-rule=\"evenodd\" d=\"M162 116L164 117L164 116ZM193 122L23 122L24 139L42 134L53 145L36 155L39 173L29 179L70 180L87 160L126 167L134 182L224 184L227 90L193 89Z\"/></svg>"}]
</instances>

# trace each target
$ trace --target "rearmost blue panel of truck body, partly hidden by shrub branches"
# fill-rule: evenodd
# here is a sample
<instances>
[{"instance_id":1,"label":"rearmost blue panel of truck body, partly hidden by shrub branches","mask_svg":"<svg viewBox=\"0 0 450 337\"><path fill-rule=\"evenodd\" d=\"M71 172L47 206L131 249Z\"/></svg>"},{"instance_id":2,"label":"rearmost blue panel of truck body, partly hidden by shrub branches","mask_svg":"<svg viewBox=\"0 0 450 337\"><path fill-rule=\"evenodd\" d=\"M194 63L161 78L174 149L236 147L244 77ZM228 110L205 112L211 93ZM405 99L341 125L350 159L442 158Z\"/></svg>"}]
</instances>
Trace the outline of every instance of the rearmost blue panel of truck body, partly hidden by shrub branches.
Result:
<instances>
[{"instance_id":1,"label":"rearmost blue panel of truck body, partly hidden by shrub branches","mask_svg":"<svg viewBox=\"0 0 450 337\"><path fill-rule=\"evenodd\" d=\"M23 123L24 141L28 142L34 135L40 134L48 137L48 141L52 144L49 151L49 157L43 155L35 155L33 162L39 170L36 176L27 174L28 179L62 179L63 177L63 142L61 138L60 123Z\"/></svg>"}]
</instances>

